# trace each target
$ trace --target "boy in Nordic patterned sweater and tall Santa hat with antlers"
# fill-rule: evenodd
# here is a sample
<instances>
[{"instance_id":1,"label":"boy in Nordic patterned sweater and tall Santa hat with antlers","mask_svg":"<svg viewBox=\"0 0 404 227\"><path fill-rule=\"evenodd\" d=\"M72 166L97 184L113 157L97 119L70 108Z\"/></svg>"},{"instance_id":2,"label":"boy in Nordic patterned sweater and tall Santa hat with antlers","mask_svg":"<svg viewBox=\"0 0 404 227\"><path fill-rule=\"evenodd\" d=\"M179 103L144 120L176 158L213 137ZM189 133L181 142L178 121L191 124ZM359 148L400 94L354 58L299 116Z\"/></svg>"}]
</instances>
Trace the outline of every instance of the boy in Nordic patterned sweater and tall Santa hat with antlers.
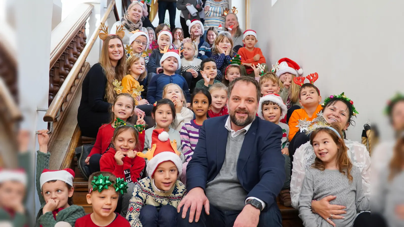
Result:
<instances>
[{"instance_id":1,"label":"boy in Nordic patterned sweater and tall Santa hat with antlers","mask_svg":"<svg viewBox=\"0 0 404 227\"><path fill-rule=\"evenodd\" d=\"M187 191L177 180L182 173L177 141L171 142L168 133L160 128L153 130L151 144L147 153L137 152L137 156L149 160L146 171L150 177L136 183L126 219L132 227L175 227L177 206ZM129 199L125 197L126 194L123 199Z\"/></svg>"}]
</instances>

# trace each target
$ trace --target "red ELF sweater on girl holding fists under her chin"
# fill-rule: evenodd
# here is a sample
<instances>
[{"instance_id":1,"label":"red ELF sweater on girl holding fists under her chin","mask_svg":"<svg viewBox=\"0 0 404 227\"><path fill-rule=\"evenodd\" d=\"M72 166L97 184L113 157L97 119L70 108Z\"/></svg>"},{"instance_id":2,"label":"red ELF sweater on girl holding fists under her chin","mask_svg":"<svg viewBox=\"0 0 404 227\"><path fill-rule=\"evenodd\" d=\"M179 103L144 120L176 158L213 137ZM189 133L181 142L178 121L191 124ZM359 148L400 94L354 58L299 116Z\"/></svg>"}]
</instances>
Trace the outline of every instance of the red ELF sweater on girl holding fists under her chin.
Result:
<instances>
[{"instance_id":1,"label":"red ELF sweater on girl holding fists under her chin","mask_svg":"<svg viewBox=\"0 0 404 227\"><path fill-rule=\"evenodd\" d=\"M142 133L144 135L144 133ZM143 150L143 149L142 149ZM135 155L135 158L129 158L125 156L123 159L123 165L116 164L115 149L110 148L107 152L101 156L100 170L107 171L114 174L116 177L124 178L127 182L137 182L140 177L140 173L145 168L146 162L144 158Z\"/></svg>"}]
</instances>

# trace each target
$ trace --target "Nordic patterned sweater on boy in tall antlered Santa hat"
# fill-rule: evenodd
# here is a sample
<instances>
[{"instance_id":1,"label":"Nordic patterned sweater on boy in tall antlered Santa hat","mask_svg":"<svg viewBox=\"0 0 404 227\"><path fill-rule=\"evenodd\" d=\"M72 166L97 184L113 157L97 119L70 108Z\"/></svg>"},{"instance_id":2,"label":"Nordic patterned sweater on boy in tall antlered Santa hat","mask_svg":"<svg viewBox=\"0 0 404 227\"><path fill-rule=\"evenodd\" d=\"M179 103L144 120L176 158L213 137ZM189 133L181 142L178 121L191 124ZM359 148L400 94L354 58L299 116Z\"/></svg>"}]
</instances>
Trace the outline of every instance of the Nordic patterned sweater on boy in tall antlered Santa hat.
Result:
<instances>
[{"instance_id":1,"label":"Nordic patterned sweater on boy in tall antlered Santa hat","mask_svg":"<svg viewBox=\"0 0 404 227\"><path fill-rule=\"evenodd\" d=\"M169 191L160 191L154 185L153 179L150 179L150 177L143 178L136 183L133 189L126 219L131 227L142 227L139 214L144 205L156 206L157 209L165 205L177 208L186 193L185 185L179 180L175 182L175 185Z\"/></svg>"}]
</instances>

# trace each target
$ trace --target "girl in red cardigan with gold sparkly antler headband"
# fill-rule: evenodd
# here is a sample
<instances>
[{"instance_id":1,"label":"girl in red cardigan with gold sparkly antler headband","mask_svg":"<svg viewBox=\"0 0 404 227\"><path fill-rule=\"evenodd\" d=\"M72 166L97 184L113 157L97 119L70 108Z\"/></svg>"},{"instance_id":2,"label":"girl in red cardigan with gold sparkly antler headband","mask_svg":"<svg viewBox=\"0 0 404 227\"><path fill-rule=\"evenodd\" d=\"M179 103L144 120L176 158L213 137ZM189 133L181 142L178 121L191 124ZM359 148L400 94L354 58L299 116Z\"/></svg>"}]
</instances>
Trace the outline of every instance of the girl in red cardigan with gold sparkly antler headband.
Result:
<instances>
[{"instance_id":1,"label":"girl in red cardigan with gold sparkly antler headband","mask_svg":"<svg viewBox=\"0 0 404 227\"><path fill-rule=\"evenodd\" d=\"M126 93L121 93L116 96L114 105L112 105L112 121L108 124L102 125L97 133L97 139L90 154L88 154L85 162L90 166L91 172L100 171L99 160L101 155L111 148L111 139L114 135L116 128L116 119L119 118L124 122L131 122L132 116L135 114L135 99ZM138 116L136 124L145 124L145 121ZM143 144L145 142L145 134L139 133L139 143L141 144L141 150L143 150Z\"/></svg>"}]
</instances>

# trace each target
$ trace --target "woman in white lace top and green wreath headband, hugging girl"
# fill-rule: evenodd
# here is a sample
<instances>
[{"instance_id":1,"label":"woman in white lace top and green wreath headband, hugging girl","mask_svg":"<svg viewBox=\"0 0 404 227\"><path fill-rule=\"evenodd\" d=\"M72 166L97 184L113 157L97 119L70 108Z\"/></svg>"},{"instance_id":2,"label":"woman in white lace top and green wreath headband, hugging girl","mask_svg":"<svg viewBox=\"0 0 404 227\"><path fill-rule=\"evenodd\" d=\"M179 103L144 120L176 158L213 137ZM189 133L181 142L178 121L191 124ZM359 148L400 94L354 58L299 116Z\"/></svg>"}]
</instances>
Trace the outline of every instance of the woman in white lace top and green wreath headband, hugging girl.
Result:
<instances>
[{"instance_id":1,"label":"woman in white lace top and green wreath headband, hugging girl","mask_svg":"<svg viewBox=\"0 0 404 227\"><path fill-rule=\"evenodd\" d=\"M345 98L343 98L345 97ZM353 114L356 114L353 102L345 95L334 95L330 99L326 99L324 109L318 114L318 117L324 116L328 123L338 122L343 130L347 130L348 126L353 122ZM350 103L351 102L351 103ZM322 104L322 105L323 105ZM348 150L348 157L354 166L358 167L362 175L362 185L365 196L370 196L370 156L366 147L357 141L345 139L345 145ZM290 195L292 197L292 206L297 208L299 205L299 194L306 171L311 168L316 155L310 142L301 145L295 152L292 168L292 178L290 181ZM342 219L344 214L344 206L330 205L329 201L334 200L334 196L327 196L320 201L311 203L312 212L319 214L322 218ZM367 214L365 214L367 216ZM358 216L359 217L359 216ZM357 220L363 220L357 218Z\"/></svg>"}]
</instances>

